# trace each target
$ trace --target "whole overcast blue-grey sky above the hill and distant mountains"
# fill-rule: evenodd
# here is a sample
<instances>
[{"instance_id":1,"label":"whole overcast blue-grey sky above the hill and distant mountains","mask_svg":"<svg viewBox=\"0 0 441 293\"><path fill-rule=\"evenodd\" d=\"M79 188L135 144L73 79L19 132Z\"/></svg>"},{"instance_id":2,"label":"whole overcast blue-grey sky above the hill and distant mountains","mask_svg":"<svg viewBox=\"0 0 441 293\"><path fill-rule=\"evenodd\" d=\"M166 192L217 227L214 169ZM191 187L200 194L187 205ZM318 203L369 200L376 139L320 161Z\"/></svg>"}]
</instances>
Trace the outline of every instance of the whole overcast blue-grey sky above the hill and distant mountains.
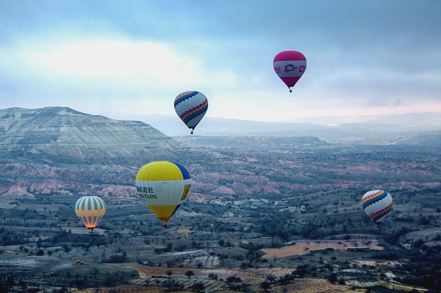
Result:
<instances>
[{"instance_id":1,"label":"whole overcast blue-grey sky above the hill and distant mountains","mask_svg":"<svg viewBox=\"0 0 441 293\"><path fill-rule=\"evenodd\" d=\"M298 50L289 93L272 69ZM440 0L0 0L0 108L258 121L441 112Z\"/></svg>"}]
</instances>

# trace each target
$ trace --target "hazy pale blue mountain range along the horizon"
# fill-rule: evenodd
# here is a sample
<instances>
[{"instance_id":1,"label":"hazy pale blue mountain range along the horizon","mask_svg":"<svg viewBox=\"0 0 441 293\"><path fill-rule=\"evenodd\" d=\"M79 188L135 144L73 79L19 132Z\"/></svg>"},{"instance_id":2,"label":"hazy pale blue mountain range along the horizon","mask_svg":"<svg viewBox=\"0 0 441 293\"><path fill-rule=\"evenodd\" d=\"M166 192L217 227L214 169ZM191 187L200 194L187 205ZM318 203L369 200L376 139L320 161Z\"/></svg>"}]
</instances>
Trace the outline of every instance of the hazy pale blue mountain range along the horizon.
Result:
<instances>
[{"instance_id":1,"label":"hazy pale blue mountain range along the horizon","mask_svg":"<svg viewBox=\"0 0 441 293\"><path fill-rule=\"evenodd\" d=\"M112 119L132 119L149 123L169 136L188 135L190 130L175 115L130 114L112 112ZM331 143L402 144L405 139L430 135L440 140L441 113L409 113L385 116L298 118L298 122L258 122L238 119L204 117L196 127L196 135L208 136L315 136ZM300 122L302 121L302 122ZM311 122L324 122L318 124ZM344 122L344 123L343 123ZM350 122L350 123L349 123ZM426 140L421 141L424 145Z\"/></svg>"}]
</instances>

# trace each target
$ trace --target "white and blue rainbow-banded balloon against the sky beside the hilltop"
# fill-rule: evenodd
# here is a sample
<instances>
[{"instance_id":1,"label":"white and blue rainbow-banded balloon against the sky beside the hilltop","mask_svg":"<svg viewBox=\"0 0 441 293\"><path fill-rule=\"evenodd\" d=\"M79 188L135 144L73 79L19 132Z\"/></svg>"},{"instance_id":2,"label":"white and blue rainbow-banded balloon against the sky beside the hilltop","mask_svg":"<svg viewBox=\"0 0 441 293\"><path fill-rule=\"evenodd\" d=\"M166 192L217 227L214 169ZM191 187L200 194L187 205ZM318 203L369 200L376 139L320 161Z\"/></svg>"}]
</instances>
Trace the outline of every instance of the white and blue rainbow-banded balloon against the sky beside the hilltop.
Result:
<instances>
[{"instance_id":1,"label":"white and blue rainbow-banded balloon against the sky beside the hilltop","mask_svg":"<svg viewBox=\"0 0 441 293\"><path fill-rule=\"evenodd\" d=\"M174 99L174 111L185 125L192 129L191 134L193 134L197 123L202 120L207 110L208 100L202 93L196 91L183 92Z\"/></svg>"}]
</instances>

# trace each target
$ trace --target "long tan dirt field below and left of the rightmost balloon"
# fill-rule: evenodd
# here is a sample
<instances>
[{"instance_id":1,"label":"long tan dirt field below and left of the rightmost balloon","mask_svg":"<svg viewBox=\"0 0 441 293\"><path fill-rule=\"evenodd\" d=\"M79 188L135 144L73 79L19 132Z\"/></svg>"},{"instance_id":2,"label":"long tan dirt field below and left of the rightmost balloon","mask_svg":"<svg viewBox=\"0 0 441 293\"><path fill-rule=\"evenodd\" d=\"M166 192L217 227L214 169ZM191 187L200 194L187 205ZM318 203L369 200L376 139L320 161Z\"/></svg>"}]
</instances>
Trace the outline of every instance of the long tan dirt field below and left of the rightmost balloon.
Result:
<instances>
[{"instance_id":1,"label":"long tan dirt field below and left of the rightmost balloon","mask_svg":"<svg viewBox=\"0 0 441 293\"><path fill-rule=\"evenodd\" d=\"M263 256L266 259L271 259L274 257L287 257L292 255L304 255L314 250L322 250L326 248L334 248L340 250L346 250L349 248L356 248L355 244L358 248L367 248L367 245L364 244L367 240L354 240L354 241L343 241L343 240L319 240L319 243L316 241L297 241L294 245L284 246L282 248L262 248L261 250L266 254ZM369 246L369 249L373 250L383 250L382 246L378 246L378 241L370 240L372 243ZM341 244L339 244L339 242Z\"/></svg>"}]
</instances>

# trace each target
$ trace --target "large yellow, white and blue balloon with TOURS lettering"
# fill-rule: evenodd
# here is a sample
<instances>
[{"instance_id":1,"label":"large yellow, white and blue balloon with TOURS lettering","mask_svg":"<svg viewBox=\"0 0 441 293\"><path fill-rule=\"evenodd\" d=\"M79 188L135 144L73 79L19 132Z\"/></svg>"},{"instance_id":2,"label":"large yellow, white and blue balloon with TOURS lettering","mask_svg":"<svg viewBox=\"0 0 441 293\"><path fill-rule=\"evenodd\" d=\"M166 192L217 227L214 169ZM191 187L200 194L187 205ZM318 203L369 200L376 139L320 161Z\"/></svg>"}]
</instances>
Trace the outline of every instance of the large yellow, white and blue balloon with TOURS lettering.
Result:
<instances>
[{"instance_id":1,"label":"large yellow, white and blue balloon with TOURS lettering","mask_svg":"<svg viewBox=\"0 0 441 293\"><path fill-rule=\"evenodd\" d=\"M136 174L136 190L144 204L164 222L163 229L190 193L190 174L179 163L151 162Z\"/></svg>"}]
</instances>

